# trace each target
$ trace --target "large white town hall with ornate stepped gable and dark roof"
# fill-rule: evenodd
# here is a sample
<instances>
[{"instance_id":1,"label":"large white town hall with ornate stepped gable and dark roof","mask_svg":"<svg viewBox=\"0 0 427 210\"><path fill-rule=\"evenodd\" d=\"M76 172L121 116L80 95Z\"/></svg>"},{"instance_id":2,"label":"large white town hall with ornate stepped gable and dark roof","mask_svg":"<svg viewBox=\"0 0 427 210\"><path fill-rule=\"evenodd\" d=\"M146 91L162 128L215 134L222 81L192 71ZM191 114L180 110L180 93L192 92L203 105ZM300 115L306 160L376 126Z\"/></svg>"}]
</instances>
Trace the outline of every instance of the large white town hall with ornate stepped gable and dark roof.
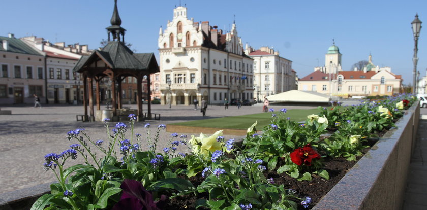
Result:
<instances>
[{"instance_id":1,"label":"large white town hall with ornate stepped gable and dark roof","mask_svg":"<svg viewBox=\"0 0 427 210\"><path fill-rule=\"evenodd\" d=\"M208 21L189 20L187 8L179 6L166 29L160 28L158 45L162 104L253 98L253 60L243 53L235 23L223 34Z\"/></svg>"}]
</instances>

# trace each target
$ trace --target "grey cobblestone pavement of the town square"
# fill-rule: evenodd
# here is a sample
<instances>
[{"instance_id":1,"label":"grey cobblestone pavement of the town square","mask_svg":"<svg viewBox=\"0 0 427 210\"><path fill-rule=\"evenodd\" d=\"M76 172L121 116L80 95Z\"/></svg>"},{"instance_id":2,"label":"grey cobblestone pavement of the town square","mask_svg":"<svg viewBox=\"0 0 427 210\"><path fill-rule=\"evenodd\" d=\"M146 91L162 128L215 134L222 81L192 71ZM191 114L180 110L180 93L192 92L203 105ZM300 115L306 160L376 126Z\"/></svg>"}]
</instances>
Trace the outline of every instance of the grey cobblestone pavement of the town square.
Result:
<instances>
[{"instance_id":1,"label":"grey cobblestone pavement of the town square","mask_svg":"<svg viewBox=\"0 0 427 210\"><path fill-rule=\"evenodd\" d=\"M129 105L136 109L136 105ZM304 106L269 106L269 108L281 109L313 109L315 107ZM0 115L0 193L35 186L38 184L55 181L52 171L44 171L42 164L44 155L48 153L60 153L69 148L76 141L68 141L66 133L76 128L85 128L92 139L106 139L106 129L103 122L77 122L76 115L83 113L82 106L43 106L42 109L32 106L2 106L2 110L11 110L12 115ZM102 107L105 109L105 107ZM146 105L143 106L146 111ZM153 113L160 113L161 120L147 121L151 127L159 124L169 124L188 120L199 120L225 116L238 116L259 113L261 104L254 106L229 106L224 110L223 106L209 106L207 117L202 117L194 106L169 106L153 105ZM143 136L146 130L143 128L146 122L135 123L135 133ZM111 126L115 123L112 122ZM161 132L159 143L163 147L169 141L171 133ZM199 135L199 133L178 133ZM241 136L225 136L226 138L241 138ZM142 145L146 150L146 145ZM71 164L83 163L83 158L72 160ZM67 166L67 164L66 164Z\"/></svg>"}]
</instances>

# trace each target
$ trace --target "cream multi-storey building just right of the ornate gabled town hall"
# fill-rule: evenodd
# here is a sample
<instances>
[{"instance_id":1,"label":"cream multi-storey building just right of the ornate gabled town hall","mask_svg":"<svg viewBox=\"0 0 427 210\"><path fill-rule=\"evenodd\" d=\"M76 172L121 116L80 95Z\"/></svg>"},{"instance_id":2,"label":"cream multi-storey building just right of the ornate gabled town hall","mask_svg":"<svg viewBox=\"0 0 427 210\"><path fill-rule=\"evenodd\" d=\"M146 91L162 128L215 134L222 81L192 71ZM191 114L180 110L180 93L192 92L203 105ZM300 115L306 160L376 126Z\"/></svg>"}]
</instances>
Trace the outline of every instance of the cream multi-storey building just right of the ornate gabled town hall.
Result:
<instances>
[{"instance_id":1,"label":"cream multi-storey building just right of the ornate gabled town hall","mask_svg":"<svg viewBox=\"0 0 427 210\"><path fill-rule=\"evenodd\" d=\"M254 50L245 47L245 51L254 59L254 96L260 101L265 96L295 89L296 72L292 72L292 61L280 57L269 47Z\"/></svg>"}]
</instances>

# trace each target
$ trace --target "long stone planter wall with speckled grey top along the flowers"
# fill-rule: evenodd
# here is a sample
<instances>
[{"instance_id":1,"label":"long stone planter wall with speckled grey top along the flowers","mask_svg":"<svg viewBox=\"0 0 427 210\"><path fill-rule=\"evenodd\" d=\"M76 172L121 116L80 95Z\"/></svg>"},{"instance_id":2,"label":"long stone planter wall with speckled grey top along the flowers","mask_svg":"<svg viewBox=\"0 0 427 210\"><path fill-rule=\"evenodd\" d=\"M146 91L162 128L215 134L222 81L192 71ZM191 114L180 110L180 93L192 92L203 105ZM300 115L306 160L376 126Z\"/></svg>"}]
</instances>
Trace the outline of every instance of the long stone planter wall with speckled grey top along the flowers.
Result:
<instances>
[{"instance_id":1,"label":"long stone planter wall with speckled grey top along the flowers","mask_svg":"<svg viewBox=\"0 0 427 210\"><path fill-rule=\"evenodd\" d=\"M418 121L415 103L313 209L401 209Z\"/></svg>"}]
</instances>

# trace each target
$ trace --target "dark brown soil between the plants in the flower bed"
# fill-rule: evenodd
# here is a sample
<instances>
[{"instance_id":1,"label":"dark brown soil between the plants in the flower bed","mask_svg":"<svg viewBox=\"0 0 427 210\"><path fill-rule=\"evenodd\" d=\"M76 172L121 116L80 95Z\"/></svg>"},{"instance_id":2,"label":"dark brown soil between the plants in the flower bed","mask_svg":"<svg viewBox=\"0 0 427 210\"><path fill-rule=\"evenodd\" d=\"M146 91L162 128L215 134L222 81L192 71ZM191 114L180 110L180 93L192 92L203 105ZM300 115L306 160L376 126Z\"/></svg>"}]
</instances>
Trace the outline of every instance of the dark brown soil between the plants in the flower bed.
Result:
<instances>
[{"instance_id":1,"label":"dark brown soil between the plants in the flower bed","mask_svg":"<svg viewBox=\"0 0 427 210\"><path fill-rule=\"evenodd\" d=\"M380 133L380 135L383 135L384 133ZM369 148L366 148L362 151L363 154L367 153L371 147L376 143L376 140L368 140L367 142L364 142L365 145L368 145ZM357 161L362 156L357 157ZM331 158L331 157L324 157L324 167L323 169L327 170L329 173L329 180L326 180L317 174L312 174L312 180L311 181L297 181L296 179L290 177L286 173L278 174L276 173L276 170L273 171L267 171L264 173L264 175L267 178L272 177L276 184L281 185L283 184L286 189L293 189L297 191L297 195L299 197L303 196L309 196L312 198L312 202L309 204L309 208L304 208L302 205L300 205L300 200L294 199L296 203L298 203L298 210L299 209L311 209L313 208L324 195L326 195L330 189L335 186L347 173L348 170L350 170L357 161L348 161L346 158ZM278 166L280 167L283 165L281 160L278 162ZM277 169L277 168L276 168ZM189 181L194 185L197 186L201 184L205 178L201 176L201 174L197 174L195 177L191 177ZM186 195L181 197L172 198L169 200L166 210L193 210L196 209L194 206L194 203L197 199L205 198L208 199L207 193L201 193L198 194L197 197L194 195ZM198 208L198 209L207 209L207 208Z\"/></svg>"}]
</instances>

